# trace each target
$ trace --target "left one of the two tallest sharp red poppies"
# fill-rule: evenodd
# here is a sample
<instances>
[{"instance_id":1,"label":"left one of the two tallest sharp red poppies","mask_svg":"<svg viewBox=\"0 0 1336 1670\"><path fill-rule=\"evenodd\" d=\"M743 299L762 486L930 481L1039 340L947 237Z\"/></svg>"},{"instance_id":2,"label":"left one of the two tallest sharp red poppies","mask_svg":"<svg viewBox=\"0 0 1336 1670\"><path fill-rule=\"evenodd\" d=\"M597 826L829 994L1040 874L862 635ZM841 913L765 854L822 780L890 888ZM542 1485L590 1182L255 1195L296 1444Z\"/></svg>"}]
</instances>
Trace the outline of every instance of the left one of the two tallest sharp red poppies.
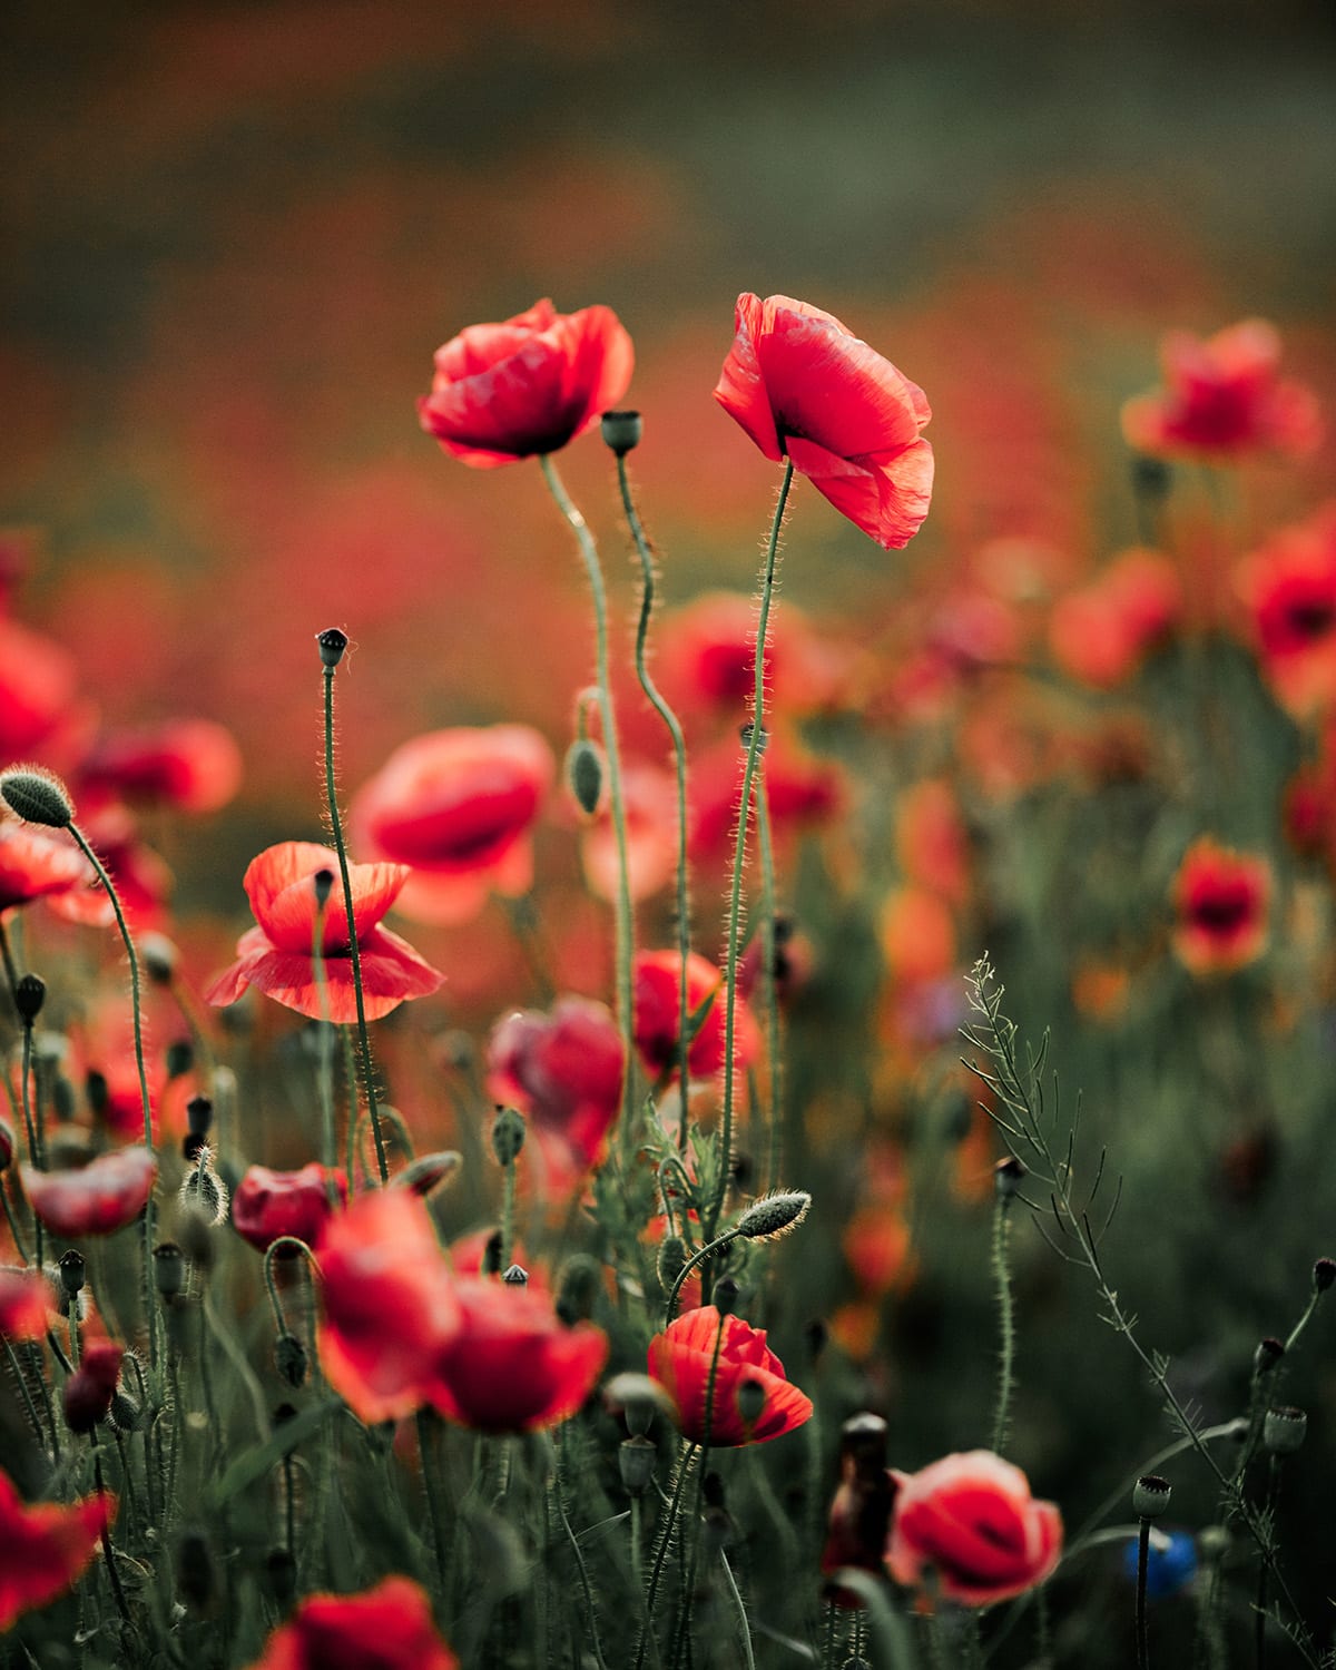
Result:
<instances>
[{"instance_id":1,"label":"left one of the two tallest sharp red poppies","mask_svg":"<svg viewBox=\"0 0 1336 1670\"><path fill-rule=\"evenodd\" d=\"M474 469L556 453L631 382L631 339L611 307L559 314L549 301L504 324L473 324L436 349L428 434Z\"/></svg>"}]
</instances>

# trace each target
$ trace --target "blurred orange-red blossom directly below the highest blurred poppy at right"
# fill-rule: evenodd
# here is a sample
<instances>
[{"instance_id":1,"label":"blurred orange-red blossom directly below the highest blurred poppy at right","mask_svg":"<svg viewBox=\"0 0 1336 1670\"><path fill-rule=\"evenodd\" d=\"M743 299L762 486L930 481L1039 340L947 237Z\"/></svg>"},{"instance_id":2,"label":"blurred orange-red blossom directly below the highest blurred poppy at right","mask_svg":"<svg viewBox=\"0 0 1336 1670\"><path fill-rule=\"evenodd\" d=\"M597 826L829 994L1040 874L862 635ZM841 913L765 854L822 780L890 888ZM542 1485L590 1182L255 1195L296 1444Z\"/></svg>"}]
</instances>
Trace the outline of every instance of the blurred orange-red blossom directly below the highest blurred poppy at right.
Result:
<instances>
[{"instance_id":1,"label":"blurred orange-red blossom directly below the highest blurred poppy at right","mask_svg":"<svg viewBox=\"0 0 1336 1670\"><path fill-rule=\"evenodd\" d=\"M1124 551L1092 584L1057 600L1049 645L1072 678L1112 690L1181 616L1182 584L1174 564L1157 551Z\"/></svg>"}]
</instances>

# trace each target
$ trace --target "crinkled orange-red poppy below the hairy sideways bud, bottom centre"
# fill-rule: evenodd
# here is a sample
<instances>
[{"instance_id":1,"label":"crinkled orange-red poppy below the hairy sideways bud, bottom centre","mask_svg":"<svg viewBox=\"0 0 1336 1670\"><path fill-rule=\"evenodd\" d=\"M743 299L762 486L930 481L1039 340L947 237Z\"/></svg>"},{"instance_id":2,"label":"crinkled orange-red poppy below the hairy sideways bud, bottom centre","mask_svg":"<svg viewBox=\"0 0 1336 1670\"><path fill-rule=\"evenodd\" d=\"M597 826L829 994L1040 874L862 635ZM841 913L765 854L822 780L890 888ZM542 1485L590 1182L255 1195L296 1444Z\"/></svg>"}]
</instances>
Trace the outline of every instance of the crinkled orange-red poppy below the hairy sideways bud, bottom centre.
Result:
<instances>
[{"instance_id":1,"label":"crinkled orange-red poppy below the hairy sideways bud, bottom centre","mask_svg":"<svg viewBox=\"0 0 1336 1670\"><path fill-rule=\"evenodd\" d=\"M715 1396L706 1423L705 1404L716 1349ZM763 1445L812 1420L812 1399L785 1379L783 1363L765 1343L765 1329L740 1316L721 1318L713 1304L678 1316L661 1334L655 1334L650 1341L650 1378L676 1404L678 1428L693 1445L705 1443L706 1436L716 1448ZM753 1399L757 1413L750 1408Z\"/></svg>"}]
</instances>

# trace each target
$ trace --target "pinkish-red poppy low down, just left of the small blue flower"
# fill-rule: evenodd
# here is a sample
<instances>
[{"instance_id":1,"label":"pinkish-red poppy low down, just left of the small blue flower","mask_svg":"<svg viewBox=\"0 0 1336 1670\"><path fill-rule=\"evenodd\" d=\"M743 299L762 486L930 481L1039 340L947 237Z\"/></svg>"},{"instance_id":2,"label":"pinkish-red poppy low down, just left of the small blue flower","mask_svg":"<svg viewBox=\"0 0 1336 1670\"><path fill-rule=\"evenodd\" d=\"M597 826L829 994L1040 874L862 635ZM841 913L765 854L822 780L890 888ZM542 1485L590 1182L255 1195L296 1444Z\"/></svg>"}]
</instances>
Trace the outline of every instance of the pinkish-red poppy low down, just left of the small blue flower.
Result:
<instances>
[{"instance_id":1,"label":"pinkish-red poppy low down, just left of the small blue flower","mask_svg":"<svg viewBox=\"0 0 1336 1670\"><path fill-rule=\"evenodd\" d=\"M990 1450L892 1473L887 1566L897 1583L930 1583L964 1607L987 1607L1042 1583L1062 1555L1062 1515L1035 1501L1020 1468Z\"/></svg>"}]
</instances>

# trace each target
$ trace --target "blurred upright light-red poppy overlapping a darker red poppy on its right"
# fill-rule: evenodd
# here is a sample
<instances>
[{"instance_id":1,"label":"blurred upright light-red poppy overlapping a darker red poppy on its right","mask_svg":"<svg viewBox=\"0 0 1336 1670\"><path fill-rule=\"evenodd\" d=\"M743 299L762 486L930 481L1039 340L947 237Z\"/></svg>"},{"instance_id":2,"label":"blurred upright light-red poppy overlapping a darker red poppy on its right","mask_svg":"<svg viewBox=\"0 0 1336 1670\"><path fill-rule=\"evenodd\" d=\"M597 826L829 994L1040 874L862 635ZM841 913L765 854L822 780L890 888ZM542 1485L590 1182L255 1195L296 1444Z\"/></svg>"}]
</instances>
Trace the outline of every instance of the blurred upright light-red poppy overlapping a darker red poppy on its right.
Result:
<instances>
[{"instance_id":1,"label":"blurred upright light-red poppy overlapping a darker red poppy on its right","mask_svg":"<svg viewBox=\"0 0 1336 1670\"><path fill-rule=\"evenodd\" d=\"M461 1314L426 1206L407 1189L361 1196L326 1222L319 1263L329 1384L362 1421L411 1414Z\"/></svg>"}]
</instances>

